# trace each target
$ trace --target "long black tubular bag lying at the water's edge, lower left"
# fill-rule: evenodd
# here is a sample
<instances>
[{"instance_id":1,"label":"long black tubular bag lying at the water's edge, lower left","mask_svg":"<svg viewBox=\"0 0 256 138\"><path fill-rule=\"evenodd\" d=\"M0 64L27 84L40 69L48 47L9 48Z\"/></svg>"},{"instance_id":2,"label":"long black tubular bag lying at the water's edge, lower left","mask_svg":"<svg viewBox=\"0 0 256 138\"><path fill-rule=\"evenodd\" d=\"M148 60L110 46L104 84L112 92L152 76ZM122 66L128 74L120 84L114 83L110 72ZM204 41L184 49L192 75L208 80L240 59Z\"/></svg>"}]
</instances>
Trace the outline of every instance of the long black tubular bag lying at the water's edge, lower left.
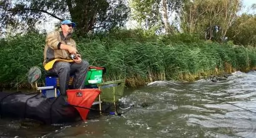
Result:
<instances>
[{"instance_id":1,"label":"long black tubular bag lying at the water's edge, lower left","mask_svg":"<svg viewBox=\"0 0 256 138\"><path fill-rule=\"evenodd\" d=\"M41 93L0 92L0 117L34 119L45 124L67 124L81 120L76 108L62 96L46 98Z\"/></svg>"}]
</instances>

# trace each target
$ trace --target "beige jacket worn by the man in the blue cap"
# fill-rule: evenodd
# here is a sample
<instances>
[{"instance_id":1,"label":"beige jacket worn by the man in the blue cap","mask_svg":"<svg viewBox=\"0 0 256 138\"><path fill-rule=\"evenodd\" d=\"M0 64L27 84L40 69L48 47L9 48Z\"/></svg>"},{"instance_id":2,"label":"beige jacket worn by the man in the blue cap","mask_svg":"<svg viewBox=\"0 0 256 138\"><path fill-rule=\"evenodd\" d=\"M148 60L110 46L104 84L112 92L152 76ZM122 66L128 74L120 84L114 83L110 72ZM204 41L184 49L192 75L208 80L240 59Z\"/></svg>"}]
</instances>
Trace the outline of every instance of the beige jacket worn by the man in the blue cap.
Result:
<instances>
[{"instance_id":1,"label":"beige jacket worn by the man in the blue cap","mask_svg":"<svg viewBox=\"0 0 256 138\"><path fill-rule=\"evenodd\" d=\"M44 47L44 62L43 65L46 65L47 62L54 60L56 58L71 60L69 56L70 53L68 50L61 50L61 44L71 45L76 48L76 42L71 39L71 35L67 38L62 34L62 30L55 30L50 32L46 36L46 45ZM79 55L81 57L81 55Z\"/></svg>"}]
</instances>

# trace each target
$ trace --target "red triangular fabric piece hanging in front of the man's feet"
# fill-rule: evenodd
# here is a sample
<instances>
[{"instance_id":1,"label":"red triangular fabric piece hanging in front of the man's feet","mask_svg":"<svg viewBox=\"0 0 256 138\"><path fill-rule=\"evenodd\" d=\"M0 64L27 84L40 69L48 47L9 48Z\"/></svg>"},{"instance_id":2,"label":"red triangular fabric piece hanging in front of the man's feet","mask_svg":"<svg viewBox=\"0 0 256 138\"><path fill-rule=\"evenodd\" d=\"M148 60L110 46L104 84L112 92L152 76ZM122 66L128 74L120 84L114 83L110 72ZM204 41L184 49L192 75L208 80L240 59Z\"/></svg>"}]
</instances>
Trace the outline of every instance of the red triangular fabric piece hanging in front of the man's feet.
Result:
<instances>
[{"instance_id":1,"label":"red triangular fabric piece hanging in front of the man's feet","mask_svg":"<svg viewBox=\"0 0 256 138\"><path fill-rule=\"evenodd\" d=\"M101 93L97 89L67 90L67 102L74 106L83 121L86 121L89 109L97 96Z\"/></svg>"}]
</instances>

